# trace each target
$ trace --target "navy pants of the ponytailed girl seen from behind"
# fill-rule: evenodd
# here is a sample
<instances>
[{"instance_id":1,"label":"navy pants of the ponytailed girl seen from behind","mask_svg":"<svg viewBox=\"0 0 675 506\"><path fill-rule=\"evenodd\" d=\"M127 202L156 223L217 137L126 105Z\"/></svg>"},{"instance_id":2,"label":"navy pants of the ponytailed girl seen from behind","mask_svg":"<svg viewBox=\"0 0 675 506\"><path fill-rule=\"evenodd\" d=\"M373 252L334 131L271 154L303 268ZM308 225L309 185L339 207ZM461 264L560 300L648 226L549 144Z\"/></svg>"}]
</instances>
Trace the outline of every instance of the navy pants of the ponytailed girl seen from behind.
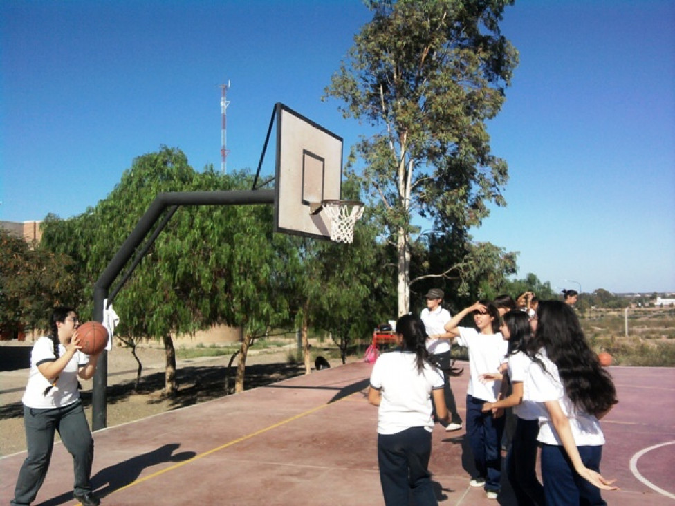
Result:
<instances>
[{"instance_id":1,"label":"navy pants of the ponytailed girl seen from behind","mask_svg":"<svg viewBox=\"0 0 675 506\"><path fill-rule=\"evenodd\" d=\"M378 434L380 484L387 506L408 506L411 492L418 506L438 505L429 473L431 455L432 433L424 427Z\"/></svg>"}]
</instances>

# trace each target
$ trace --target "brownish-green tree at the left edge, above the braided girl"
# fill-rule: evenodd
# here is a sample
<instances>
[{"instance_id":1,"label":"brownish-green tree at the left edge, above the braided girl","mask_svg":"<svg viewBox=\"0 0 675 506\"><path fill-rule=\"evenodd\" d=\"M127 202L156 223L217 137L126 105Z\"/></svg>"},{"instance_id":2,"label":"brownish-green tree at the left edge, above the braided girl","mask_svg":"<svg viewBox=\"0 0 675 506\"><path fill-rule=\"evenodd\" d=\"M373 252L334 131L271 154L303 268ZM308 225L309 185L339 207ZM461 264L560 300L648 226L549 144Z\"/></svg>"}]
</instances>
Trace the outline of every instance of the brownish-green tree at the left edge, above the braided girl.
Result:
<instances>
[{"instance_id":1,"label":"brownish-green tree at the left edge, above the braided girl","mask_svg":"<svg viewBox=\"0 0 675 506\"><path fill-rule=\"evenodd\" d=\"M0 229L0 330L48 328L55 306L77 305L71 259Z\"/></svg>"}]
</instances>

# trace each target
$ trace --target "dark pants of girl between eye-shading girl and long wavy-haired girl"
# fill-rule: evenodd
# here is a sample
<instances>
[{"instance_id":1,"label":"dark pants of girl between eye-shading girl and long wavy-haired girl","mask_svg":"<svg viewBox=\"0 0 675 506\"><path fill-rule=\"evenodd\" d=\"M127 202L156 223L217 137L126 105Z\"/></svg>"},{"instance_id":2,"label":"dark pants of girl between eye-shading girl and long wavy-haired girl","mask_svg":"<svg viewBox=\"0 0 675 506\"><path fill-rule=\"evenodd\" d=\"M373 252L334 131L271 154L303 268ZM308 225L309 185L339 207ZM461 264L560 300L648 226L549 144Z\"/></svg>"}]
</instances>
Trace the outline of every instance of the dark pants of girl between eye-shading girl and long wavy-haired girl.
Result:
<instances>
[{"instance_id":1,"label":"dark pants of girl between eye-shading girl and long wavy-haired girl","mask_svg":"<svg viewBox=\"0 0 675 506\"><path fill-rule=\"evenodd\" d=\"M518 506L544 506L544 487L537 479L539 420L516 417L511 448L506 456L506 475Z\"/></svg>"}]
</instances>

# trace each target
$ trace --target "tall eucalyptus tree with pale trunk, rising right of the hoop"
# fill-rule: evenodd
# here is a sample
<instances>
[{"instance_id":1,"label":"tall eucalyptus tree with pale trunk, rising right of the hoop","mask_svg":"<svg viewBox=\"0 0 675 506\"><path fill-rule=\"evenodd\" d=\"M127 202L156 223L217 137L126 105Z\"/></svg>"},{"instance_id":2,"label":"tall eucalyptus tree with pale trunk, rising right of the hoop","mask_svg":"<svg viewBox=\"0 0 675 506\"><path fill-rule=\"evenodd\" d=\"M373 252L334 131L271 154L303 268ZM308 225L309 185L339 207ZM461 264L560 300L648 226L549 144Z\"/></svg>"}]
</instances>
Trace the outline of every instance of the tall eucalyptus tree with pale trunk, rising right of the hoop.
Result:
<instances>
[{"instance_id":1,"label":"tall eucalyptus tree with pale trunk, rising right of the hoop","mask_svg":"<svg viewBox=\"0 0 675 506\"><path fill-rule=\"evenodd\" d=\"M402 315L420 247L416 218L430 220L435 233L465 231L487 216L488 203L504 203L507 165L490 151L486 120L501 109L517 64L499 29L513 2L365 3L373 19L355 36L326 95L346 104L345 117L375 131L352 155L364 162L362 185L396 247Z\"/></svg>"}]
</instances>

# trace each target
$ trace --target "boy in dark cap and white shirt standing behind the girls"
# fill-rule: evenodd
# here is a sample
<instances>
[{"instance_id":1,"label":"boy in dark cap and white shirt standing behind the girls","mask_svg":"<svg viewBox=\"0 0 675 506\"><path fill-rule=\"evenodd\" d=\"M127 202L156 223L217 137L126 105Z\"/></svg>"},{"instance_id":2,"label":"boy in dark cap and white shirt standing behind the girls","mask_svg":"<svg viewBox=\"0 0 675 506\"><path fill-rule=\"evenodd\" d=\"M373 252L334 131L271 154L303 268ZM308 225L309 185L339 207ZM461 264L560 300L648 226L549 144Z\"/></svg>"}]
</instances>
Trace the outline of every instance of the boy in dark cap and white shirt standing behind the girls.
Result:
<instances>
[{"instance_id":1,"label":"boy in dark cap and white shirt standing behind the girls","mask_svg":"<svg viewBox=\"0 0 675 506\"><path fill-rule=\"evenodd\" d=\"M434 355L434 359L441 366L445 376L445 385L443 393L445 395L445 405L450 411L450 424L445 427L446 431L459 431L462 428L462 419L457 413L457 406L454 402L454 395L450 388L450 373L452 357L450 356L450 339L452 334L445 332L445 324L452 319L450 311L441 307L444 297L443 290L432 288L425 295L427 307L422 310L420 319L424 322L425 330L429 339L427 339L427 350Z\"/></svg>"}]
</instances>

